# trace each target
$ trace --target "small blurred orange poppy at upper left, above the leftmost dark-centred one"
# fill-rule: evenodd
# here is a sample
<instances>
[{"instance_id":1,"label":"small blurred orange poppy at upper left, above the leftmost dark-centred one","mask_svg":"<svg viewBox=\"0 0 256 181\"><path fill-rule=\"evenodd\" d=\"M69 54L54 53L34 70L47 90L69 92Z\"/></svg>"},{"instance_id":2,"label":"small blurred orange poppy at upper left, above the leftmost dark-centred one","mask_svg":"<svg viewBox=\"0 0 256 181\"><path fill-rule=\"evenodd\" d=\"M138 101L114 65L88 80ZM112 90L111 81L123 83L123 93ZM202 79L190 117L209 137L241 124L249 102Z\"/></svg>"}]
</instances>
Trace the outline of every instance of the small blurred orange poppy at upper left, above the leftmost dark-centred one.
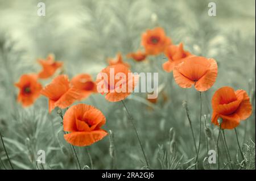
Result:
<instances>
[{"instance_id":1,"label":"small blurred orange poppy at upper left, above the leftmost dark-centred one","mask_svg":"<svg viewBox=\"0 0 256 181\"><path fill-rule=\"evenodd\" d=\"M55 71L63 65L63 62L55 61L52 54L49 54L46 60L39 59L38 62L43 68L43 70L38 73L40 79L51 77Z\"/></svg>"}]
</instances>

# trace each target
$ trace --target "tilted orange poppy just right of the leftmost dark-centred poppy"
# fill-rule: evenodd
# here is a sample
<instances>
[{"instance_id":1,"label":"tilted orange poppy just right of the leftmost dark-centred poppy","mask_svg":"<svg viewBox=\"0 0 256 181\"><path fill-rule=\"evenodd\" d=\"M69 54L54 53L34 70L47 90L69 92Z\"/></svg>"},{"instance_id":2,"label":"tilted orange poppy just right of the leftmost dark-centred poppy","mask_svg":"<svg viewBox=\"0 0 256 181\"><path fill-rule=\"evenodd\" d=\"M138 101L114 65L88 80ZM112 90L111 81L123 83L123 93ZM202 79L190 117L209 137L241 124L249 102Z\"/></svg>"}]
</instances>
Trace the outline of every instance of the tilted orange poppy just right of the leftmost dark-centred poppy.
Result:
<instances>
[{"instance_id":1,"label":"tilted orange poppy just right of the leftmost dark-centred poppy","mask_svg":"<svg viewBox=\"0 0 256 181\"><path fill-rule=\"evenodd\" d=\"M43 88L41 94L49 98L49 112L55 107L64 109L79 99L77 89L71 86L67 75L59 75Z\"/></svg>"}]
</instances>

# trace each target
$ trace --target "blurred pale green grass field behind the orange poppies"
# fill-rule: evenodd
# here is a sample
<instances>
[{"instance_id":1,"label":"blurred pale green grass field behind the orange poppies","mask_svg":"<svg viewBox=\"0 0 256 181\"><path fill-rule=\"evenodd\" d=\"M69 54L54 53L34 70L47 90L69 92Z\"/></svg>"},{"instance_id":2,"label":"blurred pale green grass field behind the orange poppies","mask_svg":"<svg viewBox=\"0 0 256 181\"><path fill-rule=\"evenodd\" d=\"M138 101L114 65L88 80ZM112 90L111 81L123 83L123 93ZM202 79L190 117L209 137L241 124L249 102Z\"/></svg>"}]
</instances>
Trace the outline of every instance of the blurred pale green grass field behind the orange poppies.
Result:
<instances>
[{"instance_id":1,"label":"blurred pale green grass field behind the orange poppies","mask_svg":"<svg viewBox=\"0 0 256 181\"><path fill-rule=\"evenodd\" d=\"M46 4L46 16L38 16L38 2ZM82 169L92 169L91 161L93 169L195 169L196 152L186 109L198 148L199 92L179 87L173 74L162 69L167 61L164 54L142 62L126 58L142 48L142 33L155 27L162 27L172 43L182 42L192 54L214 58L218 64L216 82L201 94L196 169L218 169L217 163L208 164L207 153L217 152L219 129L211 123L211 100L223 86L245 90L253 112L236 128L244 160L234 129L225 130L231 162L221 134L220 169L255 169L255 1L214 1L217 16L208 15L209 2L213 1L0 0L0 131L14 169L79 169L72 146L63 138L59 109L49 113L45 96L26 108L16 101L19 90L14 83L22 74L38 73L41 67L36 60L50 53L64 62L62 72L53 77L64 73L71 79L88 73L95 80L108 66L108 58L117 53L132 72L159 74L157 102L148 101L147 93L133 93L124 101L150 166L146 166L122 102L92 94L74 104L98 108L106 117L103 129L109 135L90 146L75 146ZM46 86L51 81L40 83ZM46 163L36 163L38 150L45 151ZM11 169L6 151L1 142L0 169Z\"/></svg>"}]
</instances>

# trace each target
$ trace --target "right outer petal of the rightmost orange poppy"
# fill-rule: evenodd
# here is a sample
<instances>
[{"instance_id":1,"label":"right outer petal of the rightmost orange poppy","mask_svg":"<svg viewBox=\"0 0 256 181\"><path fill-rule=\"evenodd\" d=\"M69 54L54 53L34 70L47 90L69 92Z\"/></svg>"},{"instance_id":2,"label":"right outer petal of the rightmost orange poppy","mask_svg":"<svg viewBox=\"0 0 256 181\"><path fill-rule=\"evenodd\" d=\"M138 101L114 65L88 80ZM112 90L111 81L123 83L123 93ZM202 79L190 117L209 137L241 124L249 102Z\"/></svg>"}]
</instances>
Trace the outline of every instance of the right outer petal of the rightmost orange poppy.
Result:
<instances>
[{"instance_id":1,"label":"right outer petal of the rightmost orange poppy","mask_svg":"<svg viewBox=\"0 0 256 181\"><path fill-rule=\"evenodd\" d=\"M236 113L240 116L241 120L245 120L250 117L253 112L253 107L250 103L250 98L244 90L236 91L237 98L241 100L241 104L238 107Z\"/></svg>"}]
</instances>

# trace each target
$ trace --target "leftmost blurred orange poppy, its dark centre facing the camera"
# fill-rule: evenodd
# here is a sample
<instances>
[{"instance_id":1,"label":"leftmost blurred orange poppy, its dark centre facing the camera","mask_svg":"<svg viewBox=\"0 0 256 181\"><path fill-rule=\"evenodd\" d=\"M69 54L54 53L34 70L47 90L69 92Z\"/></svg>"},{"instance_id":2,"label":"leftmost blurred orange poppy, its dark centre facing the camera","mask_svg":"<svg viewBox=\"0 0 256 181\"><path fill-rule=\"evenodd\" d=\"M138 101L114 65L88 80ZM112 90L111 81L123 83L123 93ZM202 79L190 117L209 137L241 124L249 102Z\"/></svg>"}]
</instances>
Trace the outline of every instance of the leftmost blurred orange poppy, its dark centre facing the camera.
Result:
<instances>
[{"instance_id":1,"label":"leftmost blurred orange poppy, its dark centre facing the camera","mask_svg":"<svg viewBox=\"0 0 256 181\"><path fill-rule=\"evenodd\" d=\"M24 74L14 85L19 88L17 100L22 103L23 107L31 106L40 96L42 90L42 85L38 82L36 74Z\"/></svg>"}]
</instances>

